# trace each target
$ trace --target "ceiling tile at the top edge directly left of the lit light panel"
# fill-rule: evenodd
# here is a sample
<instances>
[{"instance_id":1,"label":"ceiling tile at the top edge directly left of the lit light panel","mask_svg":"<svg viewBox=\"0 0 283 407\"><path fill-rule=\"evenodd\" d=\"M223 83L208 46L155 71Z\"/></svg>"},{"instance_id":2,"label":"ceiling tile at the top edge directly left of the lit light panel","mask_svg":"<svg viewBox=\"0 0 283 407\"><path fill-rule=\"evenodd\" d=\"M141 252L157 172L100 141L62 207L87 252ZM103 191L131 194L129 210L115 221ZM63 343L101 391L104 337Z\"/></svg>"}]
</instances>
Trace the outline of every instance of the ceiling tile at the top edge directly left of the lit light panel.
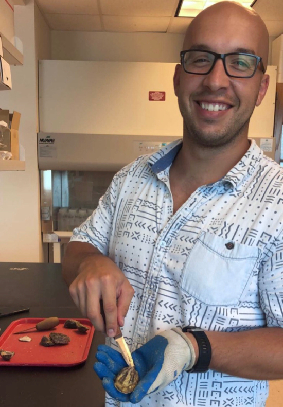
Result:
<instances>
[{"instance_id":1,"label":"ceiling tile at the top edge directly left of the lit light panel","mask_svg":"<svg viewBox=\"0 0 283 407\"><path fill-rule=\"evenodd\" d=\"M100 4L103 15L171 17L176 11L176 0L101 0Z\"/></svg>"}]
</instances>

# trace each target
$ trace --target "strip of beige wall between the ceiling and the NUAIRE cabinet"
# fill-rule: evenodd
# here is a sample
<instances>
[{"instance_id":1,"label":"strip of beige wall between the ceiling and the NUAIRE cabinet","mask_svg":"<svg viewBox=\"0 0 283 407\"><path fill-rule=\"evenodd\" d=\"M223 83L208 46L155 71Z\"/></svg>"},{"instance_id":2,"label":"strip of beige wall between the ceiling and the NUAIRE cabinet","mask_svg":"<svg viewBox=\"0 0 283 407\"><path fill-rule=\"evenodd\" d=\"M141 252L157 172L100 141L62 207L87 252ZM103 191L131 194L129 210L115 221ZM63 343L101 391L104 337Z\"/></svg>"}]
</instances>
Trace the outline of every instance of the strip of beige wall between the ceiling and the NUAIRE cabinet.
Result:
<instances>
[{"instance_id":1,"label":"strip of beige wall between the ceiling and the NUAIRE cabinet","mask_svg":"<svg viewBox=\"0 0 283 407\"><path fill-rule=\"evenodd\" d=\"M52 59L179 62L184 34L52 31Z\"/></svg>"}]
</instances>

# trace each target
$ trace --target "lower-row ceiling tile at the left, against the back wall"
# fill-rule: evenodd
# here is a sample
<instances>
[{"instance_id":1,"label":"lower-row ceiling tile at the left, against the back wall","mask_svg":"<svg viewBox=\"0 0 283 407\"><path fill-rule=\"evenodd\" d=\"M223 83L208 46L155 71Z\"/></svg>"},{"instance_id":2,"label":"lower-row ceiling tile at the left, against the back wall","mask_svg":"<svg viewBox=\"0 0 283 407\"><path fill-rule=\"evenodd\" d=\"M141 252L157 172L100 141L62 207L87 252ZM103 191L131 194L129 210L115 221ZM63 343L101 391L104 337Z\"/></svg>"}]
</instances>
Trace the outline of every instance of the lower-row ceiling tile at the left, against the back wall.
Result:
<instances>
[{"instance_id":1,"label":"lower-row ceiling tile at the left, against the back wall","mask_svg":"<svg viewBox=\"0 0 283 407\"><path fill-rule=\"evenodd\" d=\"M51 30L58 31L101 31L97 15L45 14Z\"/></svg>"}]
</instances>

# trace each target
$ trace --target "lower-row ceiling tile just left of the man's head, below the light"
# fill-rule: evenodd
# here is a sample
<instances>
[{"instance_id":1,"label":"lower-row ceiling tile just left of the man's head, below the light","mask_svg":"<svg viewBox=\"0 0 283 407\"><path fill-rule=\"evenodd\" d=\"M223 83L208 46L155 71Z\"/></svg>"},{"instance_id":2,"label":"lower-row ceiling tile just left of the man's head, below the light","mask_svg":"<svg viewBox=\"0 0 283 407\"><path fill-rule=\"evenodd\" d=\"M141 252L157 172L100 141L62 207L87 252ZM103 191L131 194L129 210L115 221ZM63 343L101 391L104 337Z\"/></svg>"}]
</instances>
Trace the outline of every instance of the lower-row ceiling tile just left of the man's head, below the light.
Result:
<instances>
[{"instance_id":1,"label":"lower-row ceiling tile just left of the man's head, below the light","mask_svg":"<svg viewBox=\"0 0 283 407\"><path fill-rule=\"evenodd\" d=\"M116 32L166 32L169 17L116 17L104 15L105 31Z\"/></svg>"}]
</instances>

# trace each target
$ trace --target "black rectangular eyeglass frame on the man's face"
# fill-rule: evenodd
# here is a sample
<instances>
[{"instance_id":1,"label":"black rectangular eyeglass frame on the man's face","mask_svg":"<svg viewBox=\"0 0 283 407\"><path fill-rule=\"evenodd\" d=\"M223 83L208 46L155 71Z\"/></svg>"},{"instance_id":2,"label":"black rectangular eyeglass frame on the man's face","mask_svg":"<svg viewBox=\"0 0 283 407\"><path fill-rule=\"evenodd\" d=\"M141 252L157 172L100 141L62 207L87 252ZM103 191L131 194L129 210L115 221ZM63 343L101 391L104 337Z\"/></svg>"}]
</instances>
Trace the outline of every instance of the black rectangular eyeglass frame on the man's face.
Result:
<instances>
[{"instance_id":1,"label":"black rectangular eyeglass frame on the man's face","mask_svg":"<svg viewBox=\"0 0 283 407\"><path fill-rule=\"evenodd\" d=\"M190 52L190 51L207 52L208 54L212 54L212 55L215 56L215 59L214 59L214 61L213 61L213 64L211 65L210 69L209 69L205 74L196 73L196 72L188 72L188 71L185 69L184 56L185 56L186 52ZM255 66L254 73L253 73L252 75L250 75L250 76L230 75L230 74L228 73L228 71L227 71L227 68L226 68L226 61L225 61L225 58L226 58L228 55L247 55L247 56L249 56L249 57L254 57L254 58L256 58L256 66ZM261 69L261 71L263 72L263 74L266 73L266 69L264 69L264 66L263 66L263 63L262 63L262 58L261 58L261 57L258 57L257 55L254 55L254 54L246 54L246 52L228 52L227 54L218 54L218 52L206 51L206 50L204 50L204 49L187 49L187 50L184 50L184 51L181 51L181 52L180 52L180 58L181 58L181 65L183 66L184 71L185 71L187 74L192 74L192 75L208 75L208 74L210 74L211 70L213 70L213 68L214 68L214 66L215 66L215 64L216 64L216 61L217 61L218 59L222 59L222 61L223 61L223 66L224 66L226 75L229 76L229 77L232 77L232 78L242 78L242 79L252 78L252 77L255 75L255 73L256 73L256 70L257 70L257 67L258 67L258 64L259 64L259 63L260 63L260 69Z\"/></svg>"}]
</instances>

